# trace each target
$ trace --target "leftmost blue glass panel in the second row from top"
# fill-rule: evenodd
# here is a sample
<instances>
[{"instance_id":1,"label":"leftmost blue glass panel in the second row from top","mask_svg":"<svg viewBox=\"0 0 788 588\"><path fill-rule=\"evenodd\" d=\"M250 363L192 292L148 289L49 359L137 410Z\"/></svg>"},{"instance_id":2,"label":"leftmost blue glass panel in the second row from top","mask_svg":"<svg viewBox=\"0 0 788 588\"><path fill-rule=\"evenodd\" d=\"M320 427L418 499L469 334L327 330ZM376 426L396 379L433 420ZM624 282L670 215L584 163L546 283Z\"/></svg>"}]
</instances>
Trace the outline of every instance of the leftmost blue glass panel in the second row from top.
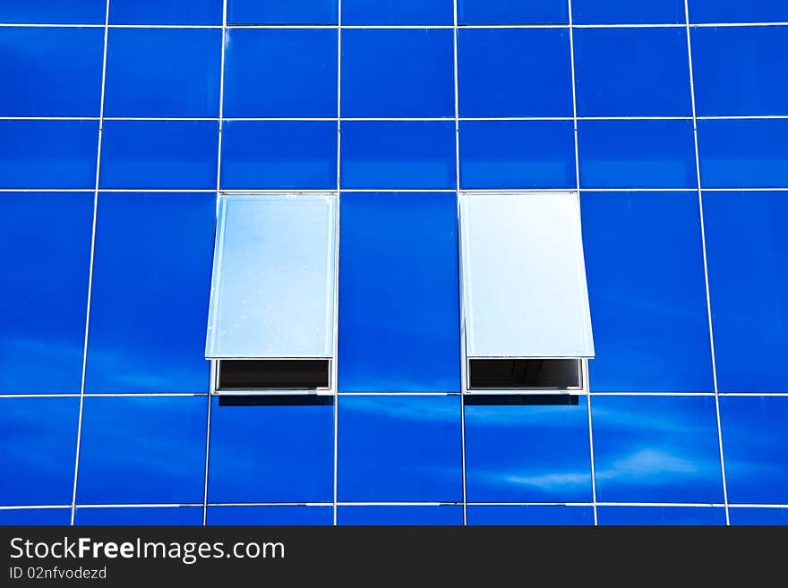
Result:
<instances>
[{"instance_id":1,"label":"leftmost blue glass panel in the second row from top","mask_svg":"<svg viewBox=\"0 0 788 588\"><path fill-rule=\"evenodd\" d=\"M0 80L13 81L0 115L99 116L103 30L4 28L0 54Z\"/></svg>"}]
</instances>

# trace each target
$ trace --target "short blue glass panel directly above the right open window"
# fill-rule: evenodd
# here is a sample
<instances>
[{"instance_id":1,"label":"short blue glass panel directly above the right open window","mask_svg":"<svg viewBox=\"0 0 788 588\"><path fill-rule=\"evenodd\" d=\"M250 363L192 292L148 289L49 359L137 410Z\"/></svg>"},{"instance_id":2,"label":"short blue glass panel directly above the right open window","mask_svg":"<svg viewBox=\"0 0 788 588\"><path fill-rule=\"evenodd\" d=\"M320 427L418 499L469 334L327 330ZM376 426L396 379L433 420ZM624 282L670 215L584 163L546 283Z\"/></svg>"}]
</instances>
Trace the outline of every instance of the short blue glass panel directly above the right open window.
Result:
<instances>
[{"instance_id":1,"label":"short blue glass panel directly above the right open window","mask_svg":"<svg viewBox=\"0 0 788 588\"><path fill-rule=\"evenodd\" d=\"M576 186L571 121L464 121L459 140L463 188Z\"/></svg>"}]
</instances>

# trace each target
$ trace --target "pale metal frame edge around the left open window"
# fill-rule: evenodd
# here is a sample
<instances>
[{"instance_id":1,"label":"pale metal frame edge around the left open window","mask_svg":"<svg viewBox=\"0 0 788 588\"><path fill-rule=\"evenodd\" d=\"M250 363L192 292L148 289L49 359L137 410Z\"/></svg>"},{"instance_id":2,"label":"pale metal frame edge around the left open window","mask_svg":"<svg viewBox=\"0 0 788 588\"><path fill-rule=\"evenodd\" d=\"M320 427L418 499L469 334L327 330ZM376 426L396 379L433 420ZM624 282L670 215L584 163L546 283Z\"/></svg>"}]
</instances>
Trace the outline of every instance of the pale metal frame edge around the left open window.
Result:
<instances>
[{"instance_id":1,"label":"pale metal frame edge around the left open window","mask_svg":"<svg viewBox=\"0 0 788 588\"><path fill-rule=\"evenodd\" d=\"M215 309L215 290L220 279L221 261L224 257L224 226L225 218L227 215L227 200L235 198L253 199L255 197L275 197L287 196L291 198L330 198L333 203L332 219L330 223L330 234L332 235L332 247L327 248L327 260L329 263L327 267L332 272L329 274L330 281L330 304L331 304L331 355L301 355L297 357L209 357L208 348L210 345L210 338L215 337L215 329L211 329L211 320L213 320ZM330 396L335 393L336 384L336 365L337 365L337 346L338 341L336 331L338 328L338 233L339 233L339 195L338 191L226 191L219 193L218 215L216 224L216 235L214 242L214 260L213 268L211 271L211 285L210 285L210 309L208 316L208 323L206 328L206 360L210 362L209 373L209 393L211 396L304 396L304 395L317 395L317 396ZM221 362L224 360L263 360L263 361L300 361L300 360L325 360L328 362L328 386L319 388L221 388L219 385L221 378Z\"/></svg>"}]
</instances>

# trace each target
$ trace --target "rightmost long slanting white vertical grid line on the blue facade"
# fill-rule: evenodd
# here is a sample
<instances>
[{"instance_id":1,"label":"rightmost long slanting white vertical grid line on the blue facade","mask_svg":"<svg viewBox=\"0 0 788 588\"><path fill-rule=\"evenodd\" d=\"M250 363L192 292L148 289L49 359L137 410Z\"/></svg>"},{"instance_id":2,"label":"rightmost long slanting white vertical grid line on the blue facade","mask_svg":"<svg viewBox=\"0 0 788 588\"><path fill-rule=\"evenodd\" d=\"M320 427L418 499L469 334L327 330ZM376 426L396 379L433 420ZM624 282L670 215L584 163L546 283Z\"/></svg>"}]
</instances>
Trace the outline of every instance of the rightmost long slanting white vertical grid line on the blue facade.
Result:
<instances>
[{"instance_id":1,"label":"rightmost long slanting white vertical grid line on the blue facade","mask_svg":"<svg viewBox=\"0 0 788 588\"><path fill-rule=\"evenodd\" d=\"M695 75L694 75L694 64L692 63L692 34L690 30L690 3L689 0L684 0L684 17L686 19L686 26L687 26L687 59L690 64L690 98L692 103L692 136L695 141L695 171L696 171L696 181L698 182L698 217L700 220L700 243L703 251L703 276L704 276L704 285L706 287L706 307L707 307L707 320L708 320L708 339L709 339L709 351L711 354L711 369L712 369L712 378L714 379L714 391L715 391L715 415L716 415L716 424L717 424L717 442L719 443L719 451L720 451L720 473L722 475L722 482L723 482L723 499L725 503L725 524L731 524L731 516L728 511L728 485L725 477L725 458L723 452L723 428L722 423L720 422L720 398L719 398L719 386L717 384L717 366L716 366L716 356L715 356L715 340L714 340L714 322L712 320L712 312L711 312L711 291L709 287L708 281L708 258L707 258L707 249L706 249L706 225L704 223L703 218L703 188L701 187L703 184L701 183L700 177L700 149L698 148L698 120L697 120L697 110L696 110L696 102L695 102Z\"/></svg>"}]
</instances>

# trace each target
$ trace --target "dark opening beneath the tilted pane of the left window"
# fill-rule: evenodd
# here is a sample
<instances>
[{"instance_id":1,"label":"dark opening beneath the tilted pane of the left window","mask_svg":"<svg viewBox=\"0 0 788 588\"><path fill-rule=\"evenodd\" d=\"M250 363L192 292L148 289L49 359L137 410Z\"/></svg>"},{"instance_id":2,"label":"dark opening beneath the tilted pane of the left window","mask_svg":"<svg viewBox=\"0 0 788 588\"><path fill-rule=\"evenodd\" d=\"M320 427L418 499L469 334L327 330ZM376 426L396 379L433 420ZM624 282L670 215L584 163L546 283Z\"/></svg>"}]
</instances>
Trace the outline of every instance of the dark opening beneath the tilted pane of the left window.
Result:
<instances>
[{"instance_id":1,"label":"dark opening beneath the tilted pane of the left window","mask_svg":"<svg viewBox=\"0 0 788 588\"><path fill-rule=\"evenodd\" d=\"M219 390L329 388L329 360L220 360Z\"/></svg>"}]
</instances>

